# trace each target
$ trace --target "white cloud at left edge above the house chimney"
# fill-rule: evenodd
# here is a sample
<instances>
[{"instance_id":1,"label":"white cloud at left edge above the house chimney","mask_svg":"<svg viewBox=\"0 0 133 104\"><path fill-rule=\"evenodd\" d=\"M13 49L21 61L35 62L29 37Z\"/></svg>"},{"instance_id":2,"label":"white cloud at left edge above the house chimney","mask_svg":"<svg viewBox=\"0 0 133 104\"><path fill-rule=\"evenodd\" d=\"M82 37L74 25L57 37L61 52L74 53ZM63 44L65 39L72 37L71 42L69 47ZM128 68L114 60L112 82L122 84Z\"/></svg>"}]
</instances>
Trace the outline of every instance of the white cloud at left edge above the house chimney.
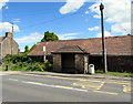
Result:
<instances>
[{"instance_id":1,"label":"white cloud at left edge above the house chimney","mask_svg":"<svg viewBox=\"0 0 133 104\"><path fill-rule=\"evenodd\" d=\"M20 29L18 25L13 24L13 31L19 32ZM0 22L0 32L12 32L12 24L9 22Z\"/></svg>"}]
</instances>

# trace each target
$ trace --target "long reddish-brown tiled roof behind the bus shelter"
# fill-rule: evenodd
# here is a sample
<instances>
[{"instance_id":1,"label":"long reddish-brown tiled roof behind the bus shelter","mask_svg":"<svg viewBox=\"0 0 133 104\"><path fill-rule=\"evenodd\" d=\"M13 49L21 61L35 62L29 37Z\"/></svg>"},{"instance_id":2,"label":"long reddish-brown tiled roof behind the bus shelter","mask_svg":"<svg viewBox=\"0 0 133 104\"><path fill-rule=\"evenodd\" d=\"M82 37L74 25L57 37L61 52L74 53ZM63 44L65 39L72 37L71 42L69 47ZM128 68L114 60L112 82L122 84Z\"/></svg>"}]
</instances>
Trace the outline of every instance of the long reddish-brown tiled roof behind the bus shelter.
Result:
<instances>
[{"instance_id":1,"label":"long reddish-brown tiled roof behind the bus shelter","mask_svg":"<svg viewBox=\"0 0 133 104\"><path fill-rule=\"evenodd\" d=\"M105 38L105 48L108 54L122 54L130 55L133 50L131 45L131 40L133 35L123 37L108 37ZM90 39L76 39L76 40L60 40L60 41L49 41L40 42L37 48L33 49L28 55L43 55L52 54L52 52L60 51L66 45L78 45L85 52L90 54L102 54L102 39L101 38L90 38ZM45 46L45 52L43 52L43 46ZM65 49L65 51L68 51Z\"/></svg>"}]
</instances>

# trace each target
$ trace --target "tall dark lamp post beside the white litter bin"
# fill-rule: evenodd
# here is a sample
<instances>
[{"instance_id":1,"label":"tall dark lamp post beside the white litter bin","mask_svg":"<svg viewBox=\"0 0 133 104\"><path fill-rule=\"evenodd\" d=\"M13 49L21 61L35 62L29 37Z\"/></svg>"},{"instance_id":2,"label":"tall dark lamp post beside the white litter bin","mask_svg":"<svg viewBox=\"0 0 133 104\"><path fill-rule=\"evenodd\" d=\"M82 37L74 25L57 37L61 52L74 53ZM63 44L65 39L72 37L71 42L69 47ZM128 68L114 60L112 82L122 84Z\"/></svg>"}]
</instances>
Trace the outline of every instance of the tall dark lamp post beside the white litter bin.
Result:
<instances>
[{"instance_id":1,"label":"tall dark lamp post beside the white litter bin","mask_svg":"<svg viewBox=\"0 0 133 104\"><path fill-rule=\"evenodd\" d=\"M103 71L104 73L108 72L106 69L106 52L105 52L105 42L104 42L104 21L103 21L103 10L104 6L101 3L100 4L100 11L101 11L101 30L102 30L102 55L103 55Z\"/></svg>"}]
</instances>

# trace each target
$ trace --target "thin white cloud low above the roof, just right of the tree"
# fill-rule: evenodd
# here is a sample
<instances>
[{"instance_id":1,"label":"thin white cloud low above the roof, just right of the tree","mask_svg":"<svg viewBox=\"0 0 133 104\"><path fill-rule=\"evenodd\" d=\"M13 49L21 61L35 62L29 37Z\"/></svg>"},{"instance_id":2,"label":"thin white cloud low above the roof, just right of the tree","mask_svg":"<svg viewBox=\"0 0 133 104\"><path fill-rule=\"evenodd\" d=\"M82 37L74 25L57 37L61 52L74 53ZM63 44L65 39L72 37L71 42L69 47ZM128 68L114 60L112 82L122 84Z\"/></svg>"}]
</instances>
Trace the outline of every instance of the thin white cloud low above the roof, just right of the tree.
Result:
<instances>
[{"instance_id":1,"label":"thin white cloud low above the roof, just right of the tree","mask_svg":"<svg viewBox=\"0 0 133 104\"><path fill-rule=\"evenodd\" d=\"M66 34L60 34L58 35L60 40L70 40L75 39L79 33L66 33Z\"/></svg>"}]
</instances>

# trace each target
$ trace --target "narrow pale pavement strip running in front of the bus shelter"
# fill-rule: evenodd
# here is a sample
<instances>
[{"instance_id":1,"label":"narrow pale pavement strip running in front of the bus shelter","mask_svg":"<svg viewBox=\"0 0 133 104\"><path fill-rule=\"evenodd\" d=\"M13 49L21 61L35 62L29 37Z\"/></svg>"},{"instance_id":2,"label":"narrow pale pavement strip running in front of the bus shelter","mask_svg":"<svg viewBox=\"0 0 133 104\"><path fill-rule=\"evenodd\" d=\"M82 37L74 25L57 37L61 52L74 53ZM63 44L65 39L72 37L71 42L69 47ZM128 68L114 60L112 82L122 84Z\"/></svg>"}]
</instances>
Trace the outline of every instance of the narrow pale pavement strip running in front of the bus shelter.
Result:
<instances>
[{"instance_id":1,"label":"narrow pale pavement strip running in front of the bus shelter","mask_svg":"<svg viewBox=\"0 0 133 104\"><path fill-rule=\"evenodd\" d=\"M112 76L105 74L68 74L68 73L55 73L55 72L20 72L27 74L37 74L37 75L51 75L51 76L62 76L62 77L81 77L81 79L106 79L106 80L121 80L121 81L131 81L132 77L122 77L122 76Z\"/></svg>"}]
</instances>

